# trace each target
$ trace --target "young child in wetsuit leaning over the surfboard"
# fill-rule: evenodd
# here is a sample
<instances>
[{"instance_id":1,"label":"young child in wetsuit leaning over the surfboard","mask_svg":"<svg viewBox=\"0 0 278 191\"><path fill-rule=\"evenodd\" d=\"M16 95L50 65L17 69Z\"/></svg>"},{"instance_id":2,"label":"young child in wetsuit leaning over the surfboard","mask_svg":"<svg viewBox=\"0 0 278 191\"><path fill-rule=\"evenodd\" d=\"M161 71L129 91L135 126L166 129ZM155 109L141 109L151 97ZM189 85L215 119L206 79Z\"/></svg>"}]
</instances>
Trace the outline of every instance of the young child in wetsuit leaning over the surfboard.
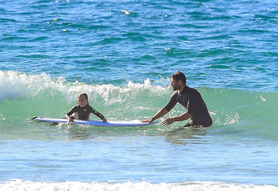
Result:
<instances>
[{"instance_id":1,"label":"young child in wetsuit leaning over the surfboard","mask_svg":"<svg viewBox=\"0 0 278 191\"><path fill-rule=\"evenodd\" d=\"M69 123L72 123L73 119L88 120L91 113L94 113L97 117L102 119L104 123L107 121L101 113L98 113L89 105L88 95L81 93L78 95L78 105L72 107L69 112L66 113L65 117L68 119Z\"/></svg>"}]
</instances>

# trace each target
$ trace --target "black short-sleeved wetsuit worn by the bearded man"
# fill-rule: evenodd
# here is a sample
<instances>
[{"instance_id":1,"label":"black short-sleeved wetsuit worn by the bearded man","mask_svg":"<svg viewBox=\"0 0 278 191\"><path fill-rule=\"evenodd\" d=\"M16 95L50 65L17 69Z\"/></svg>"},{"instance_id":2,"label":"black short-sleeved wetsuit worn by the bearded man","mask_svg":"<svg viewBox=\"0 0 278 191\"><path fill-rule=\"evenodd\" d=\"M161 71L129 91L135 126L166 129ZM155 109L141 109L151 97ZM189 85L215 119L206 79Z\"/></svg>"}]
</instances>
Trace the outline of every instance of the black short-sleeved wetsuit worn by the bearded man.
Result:
<instances>
[{"instance_id":1,"label":"black short-sleeved wetsuit worn by the bearded man","mask_svg":"<svg viewBox=\"0 0 278 191\"><path fill-rule=\"evenodd\" d=\"M177 102L187 109L187 113L193 115L186 126L202 125L204 127L209 127L212 124L206 103L201 94L194 88L185 86L181 92L176 91L173 93L169 102L165 105L165 109L170 111Z\"/></svg>"}]
</instances>

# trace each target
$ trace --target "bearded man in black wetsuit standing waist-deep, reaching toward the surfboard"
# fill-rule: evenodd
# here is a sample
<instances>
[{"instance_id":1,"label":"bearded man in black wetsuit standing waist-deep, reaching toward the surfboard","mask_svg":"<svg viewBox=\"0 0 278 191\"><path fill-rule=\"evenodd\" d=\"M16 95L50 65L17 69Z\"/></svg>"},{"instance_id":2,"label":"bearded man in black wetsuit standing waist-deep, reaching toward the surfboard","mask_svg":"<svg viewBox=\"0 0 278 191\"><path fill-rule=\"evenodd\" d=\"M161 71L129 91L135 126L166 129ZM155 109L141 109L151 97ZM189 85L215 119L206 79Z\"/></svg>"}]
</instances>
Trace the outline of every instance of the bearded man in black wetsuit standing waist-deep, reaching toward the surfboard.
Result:
<instances>
[{"instance_id":1,"label":"bearded man in black wetsuit standing waist-deep, reaching toward the surfboard","mask_svg":"<svg viewBox=\"0 0 278 191\"><path fill-rule=\"evenodd\" d=\"M201 94L194 88L186 86L185 75L177 71L171 75L173 90L177 90L172 94L169 102L162 107L152 118L144 120L142 122L152 122L155 119L163 117L179 102L184 106L187 111L176 117L166 117L162 122L162 125L170 125L175 121L188 120L188 123L184 127L202 125L203 127L209 127L212 124L211 117L208 113L206 103L204 102Z\"/></svg>"}]
</instances>

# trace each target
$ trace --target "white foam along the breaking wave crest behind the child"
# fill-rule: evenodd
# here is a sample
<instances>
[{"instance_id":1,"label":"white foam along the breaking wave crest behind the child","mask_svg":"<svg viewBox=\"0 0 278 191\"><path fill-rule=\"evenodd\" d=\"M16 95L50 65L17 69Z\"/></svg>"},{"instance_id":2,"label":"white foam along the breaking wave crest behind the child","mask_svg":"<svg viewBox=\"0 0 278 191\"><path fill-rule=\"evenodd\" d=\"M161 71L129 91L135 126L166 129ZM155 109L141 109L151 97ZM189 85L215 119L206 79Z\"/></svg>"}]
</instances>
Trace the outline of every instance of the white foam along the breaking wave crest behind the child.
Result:
<instances>
[{"instance_id":1,"label":"white foam along the breaking wave crest behind the child","mask_svg":"<svg viewBox=\"0 0 278 191\"><path fill-rule=\"evenodd\" d=\"M159 80L158 80L159 81ZM154 82L157 83L157 82ZM22 72L0 70L0 103L5 100L19 100L32 98L40 92L49 96L57 94L65 97L69 103L77 99L77 95L86 92L90 99L96 100L98 97L105 101L105 105L114 103L123 103L127 98L135 99L143 91L151 94L164 94L165 88L161 85L155 85L149 79L144 83L134 83L129 81L123 86L112 84L86 84L84 82L68 82L64 78L51 78L49 74L26 74ZM165 83L164 81L162 84Z\"/></svg>"}]
</instances>

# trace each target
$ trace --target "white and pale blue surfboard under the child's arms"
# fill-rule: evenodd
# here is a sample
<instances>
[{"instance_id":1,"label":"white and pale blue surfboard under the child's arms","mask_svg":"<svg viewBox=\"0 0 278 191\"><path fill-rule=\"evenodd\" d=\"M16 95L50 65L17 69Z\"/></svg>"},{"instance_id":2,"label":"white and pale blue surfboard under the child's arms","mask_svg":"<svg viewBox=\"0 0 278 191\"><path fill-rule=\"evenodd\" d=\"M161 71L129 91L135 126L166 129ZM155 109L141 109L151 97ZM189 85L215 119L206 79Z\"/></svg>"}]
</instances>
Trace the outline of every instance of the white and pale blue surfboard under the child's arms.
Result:
<instances>
[{"instance_id":1,"label":"white and pale blue surfboard under the child's arms","mask_svg":"<svg viewBox=\"0 0 278 191\"><path fill-rule=\"evenodd\" d=\"M58 118L47 118L47 117L34 117L32 119L53 123L68 123L67 119L58 119ZM143 123L140 121L107 121L103 123L101 120L78 120L74 119L72 124L82 124L82 125L93 125L93 126L111 126L111 127L131 127L131 126L142 126L142 125L151 125L157 123L153 121L151 123Z\"/></svg>"}]
</instances>

